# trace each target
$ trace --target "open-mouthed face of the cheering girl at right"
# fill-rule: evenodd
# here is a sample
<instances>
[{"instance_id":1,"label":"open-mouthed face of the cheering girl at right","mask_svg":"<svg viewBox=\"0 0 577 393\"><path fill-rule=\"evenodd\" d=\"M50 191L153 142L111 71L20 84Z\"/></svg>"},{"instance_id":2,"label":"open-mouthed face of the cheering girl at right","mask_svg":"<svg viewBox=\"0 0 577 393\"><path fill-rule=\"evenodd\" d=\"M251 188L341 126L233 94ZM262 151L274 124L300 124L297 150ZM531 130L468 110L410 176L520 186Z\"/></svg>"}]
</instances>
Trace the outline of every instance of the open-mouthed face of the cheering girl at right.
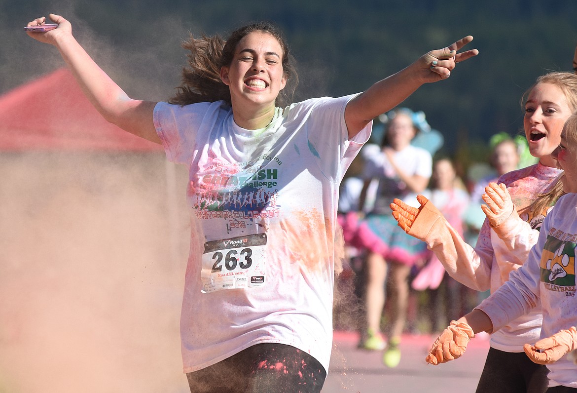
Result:
<instances>
[{"instance_id":1,"label":"open-mouthed face of the cheering girl at right","mask_svg":"<svg viewBox=\"0 0 577 393\"><path fill-rule=\"evenodd\" d=\"M550 156L560 141L561 129L572 110L563 90L550 83L539 83L529 93L523 125L529 151L541 164L556 166Z\"/></svg>"}]
</instances>

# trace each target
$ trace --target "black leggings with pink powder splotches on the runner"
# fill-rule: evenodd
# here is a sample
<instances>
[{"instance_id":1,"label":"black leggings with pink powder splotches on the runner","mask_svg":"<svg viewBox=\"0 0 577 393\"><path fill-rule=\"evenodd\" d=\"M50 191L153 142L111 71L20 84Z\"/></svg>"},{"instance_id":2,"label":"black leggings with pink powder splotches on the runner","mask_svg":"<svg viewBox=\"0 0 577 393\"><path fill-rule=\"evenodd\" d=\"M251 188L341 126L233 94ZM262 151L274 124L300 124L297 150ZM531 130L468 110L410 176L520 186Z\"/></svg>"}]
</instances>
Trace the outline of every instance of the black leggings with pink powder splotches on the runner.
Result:
<instances>
[{"instance_id":1,"label":"black leggings with pink powder splotches on the runner","mask_svg":"<svg viewBox=\"0 0 577 393\"><path fill-rule=\"evenodd\" d=\"M186 377L191 393L319 393L327 372L295 347L262 343Z\"/></svg>"}]
</instances>

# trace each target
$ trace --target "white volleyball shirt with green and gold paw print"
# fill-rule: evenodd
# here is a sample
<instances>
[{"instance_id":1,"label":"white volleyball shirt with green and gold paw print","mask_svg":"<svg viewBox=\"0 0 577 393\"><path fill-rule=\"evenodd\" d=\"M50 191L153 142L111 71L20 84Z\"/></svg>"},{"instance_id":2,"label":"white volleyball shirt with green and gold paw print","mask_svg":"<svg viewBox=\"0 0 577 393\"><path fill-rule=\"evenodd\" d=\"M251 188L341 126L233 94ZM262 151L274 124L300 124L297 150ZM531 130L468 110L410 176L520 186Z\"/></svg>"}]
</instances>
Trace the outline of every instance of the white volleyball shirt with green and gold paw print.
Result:
<instances>
[{"instance_id":1,"label":"white volleyball shirt with green and gold paw print","mask_svg":"<svg viewBox=\"0 0 577 393\"><path fill-rule=\"evenodd\" d=\"M532 312L543 313L541 338L577 326L575 247L577 246L577 194L561 196L543 221L537 244L527 262L477 308L493 322L494 329ZM549 386L577 388L577 367L567 357L547 365Z\"/></svg>"}]
</instances>

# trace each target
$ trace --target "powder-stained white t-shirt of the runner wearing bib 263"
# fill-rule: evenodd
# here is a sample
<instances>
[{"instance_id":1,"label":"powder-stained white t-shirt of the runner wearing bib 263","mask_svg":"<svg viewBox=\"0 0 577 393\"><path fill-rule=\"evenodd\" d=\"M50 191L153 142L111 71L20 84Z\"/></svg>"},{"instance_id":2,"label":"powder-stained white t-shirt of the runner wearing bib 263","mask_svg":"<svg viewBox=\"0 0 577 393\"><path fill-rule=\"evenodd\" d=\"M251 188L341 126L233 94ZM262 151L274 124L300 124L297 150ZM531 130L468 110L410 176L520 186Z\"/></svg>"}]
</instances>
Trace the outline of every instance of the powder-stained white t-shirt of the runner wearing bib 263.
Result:
<instances>
[{"instance_id":1,"label":"powder-stained white t-shirt of the runner wearing bib 263","mask_svg":"<svg viewBox=\"0 0 577 393\"><path fill-rule=\"evenodd\" d=\"M184 372L265 342L297 347L328 370L339 184L371 129L349 140L353 97L277 108L254 131L222 101L156 105L168 160L189 166Z\"/></svg>"}]
</instances>

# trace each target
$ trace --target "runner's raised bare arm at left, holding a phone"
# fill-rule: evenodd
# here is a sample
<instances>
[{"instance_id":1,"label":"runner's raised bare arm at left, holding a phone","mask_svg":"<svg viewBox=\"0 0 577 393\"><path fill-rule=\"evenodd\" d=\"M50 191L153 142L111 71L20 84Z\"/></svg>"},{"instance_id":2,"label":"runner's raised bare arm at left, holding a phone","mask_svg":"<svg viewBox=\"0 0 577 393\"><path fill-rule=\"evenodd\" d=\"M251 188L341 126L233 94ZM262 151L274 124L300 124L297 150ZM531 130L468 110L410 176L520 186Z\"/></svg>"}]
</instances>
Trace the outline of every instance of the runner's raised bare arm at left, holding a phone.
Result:
<instances>
[{"instance_id":1,"label":"runner's raised bare arm at left, holding a phone","mask_svg":"<svg viewBox=\"0 0 577 393\"><path fill-rule=\"evenodd\" d=\"M50 14L50 19L58 24L58 28L27 34L57 47L84 94L107 121L141 138L160 143L152 120L156 103L128 97L74 39L69 21L55 14ZM28 26L41 25L45 21L45 17L40 17Z\"/></svg>"}]
</instances>

